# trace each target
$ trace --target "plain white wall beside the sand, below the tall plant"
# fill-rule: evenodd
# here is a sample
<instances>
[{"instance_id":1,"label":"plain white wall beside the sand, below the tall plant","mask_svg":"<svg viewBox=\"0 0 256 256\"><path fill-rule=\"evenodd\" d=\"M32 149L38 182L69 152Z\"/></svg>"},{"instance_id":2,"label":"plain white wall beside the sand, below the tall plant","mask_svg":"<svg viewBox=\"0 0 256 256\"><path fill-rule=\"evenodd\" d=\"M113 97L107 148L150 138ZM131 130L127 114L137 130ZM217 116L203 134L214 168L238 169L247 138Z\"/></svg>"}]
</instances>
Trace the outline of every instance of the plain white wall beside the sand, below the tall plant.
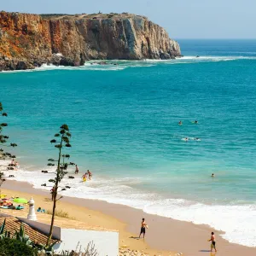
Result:
<instances>
[{"instance_id":1,"label":"plain white wall beside the sand, below the tall plant","mask_svg":"<svg viewBox=\"0 0 256 256\"><path fill-rule=\"evenodd\" d=\"M94 230L61 229L61 243L55 245L55 251L72 251L81 246L81 251L93 241L99 256L119 255L119 233Z\"/></svg>"}]
</instances>

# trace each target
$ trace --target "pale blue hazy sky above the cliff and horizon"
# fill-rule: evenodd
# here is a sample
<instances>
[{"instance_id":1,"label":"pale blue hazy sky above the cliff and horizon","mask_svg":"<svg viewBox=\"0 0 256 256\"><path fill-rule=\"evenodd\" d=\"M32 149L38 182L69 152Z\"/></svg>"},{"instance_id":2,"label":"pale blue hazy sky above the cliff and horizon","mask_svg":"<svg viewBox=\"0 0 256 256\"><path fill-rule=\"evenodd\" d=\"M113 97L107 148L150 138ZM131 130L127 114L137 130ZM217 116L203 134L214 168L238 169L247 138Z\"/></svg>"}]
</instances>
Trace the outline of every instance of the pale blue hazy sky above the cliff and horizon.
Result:
<instances>
[{"instance_id":1,"label":"pale blue hazy sky above the cliff and horizon","mask_svg":"<svg viewBox=\"0 0 256 256\"><path fill-rule=\"evenodd\" d=\"M0 0L2 10L33 14L128 12L146 15L171 38L256 38L256 0Z\"/></svg>"}]
</instances>

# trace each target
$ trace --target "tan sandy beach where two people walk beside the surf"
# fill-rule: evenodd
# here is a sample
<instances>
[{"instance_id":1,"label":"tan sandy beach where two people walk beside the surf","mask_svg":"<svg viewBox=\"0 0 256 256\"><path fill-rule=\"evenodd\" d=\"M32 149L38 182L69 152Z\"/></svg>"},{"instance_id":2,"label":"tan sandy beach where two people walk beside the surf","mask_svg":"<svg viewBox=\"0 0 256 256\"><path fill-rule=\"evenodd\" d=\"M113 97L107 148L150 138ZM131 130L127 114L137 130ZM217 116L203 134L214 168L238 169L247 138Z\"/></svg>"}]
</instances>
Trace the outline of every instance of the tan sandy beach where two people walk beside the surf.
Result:
<instances>
[{"instance_id":1,"label":"tan sandy beach where two people walk beside the surf","mask_svg":"<svg viewBox=\"0 0 256 256\"><path fill-rule=\"evenodd\" d=\"M34 189L29 183L6 181L3 183L2 188L3 191L4 189L14 191L13 193L15 194L16 192L20 192L30 195L49 196L48 192L42 189ZM74 207L83 207L95 214L96 212L100 213L101 218L112 218L110 223L115 219L116 222L114 222L112 226L104 228L119 230L119 247L124 246L125 243L125 245L129 245L131 249L148 250L150 255L152 253L175 255L175 253L171 254L173 251L183 253L183 255L187 256L215 255L215 253L210 253L209 250L210 244L207 239L212 229L207 225L192 224L172 218L148 214L142 210L123 205L110 204L106 201L64 196L61 202L73 205L71 208L63 209L64 211L68 210L72 212ZM72 216L72 214L70 215ZM137 236L141 218L146 218L149 226L145 243L143 243L143 240L138 241L137 239L131 238L131 235ZM220 236L223 234L221 231L215 230L215 234L217 237L218 255L253 256L256 253L255 247L244 247L224 240L224 238Z\"/></svg>"}]
</instances>

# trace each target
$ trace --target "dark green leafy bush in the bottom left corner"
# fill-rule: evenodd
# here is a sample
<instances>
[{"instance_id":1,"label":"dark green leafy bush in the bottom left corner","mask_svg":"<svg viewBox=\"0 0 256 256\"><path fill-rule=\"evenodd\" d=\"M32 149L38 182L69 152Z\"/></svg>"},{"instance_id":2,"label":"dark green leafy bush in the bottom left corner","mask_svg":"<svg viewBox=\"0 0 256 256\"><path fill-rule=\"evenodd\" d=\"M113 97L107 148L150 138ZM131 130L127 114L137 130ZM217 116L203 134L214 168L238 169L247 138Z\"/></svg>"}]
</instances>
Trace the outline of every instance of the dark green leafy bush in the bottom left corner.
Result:
<instances>
[{"instance_id":1,"label":"dark green leafy bush in the bottom left corner","mask_svg":"<svg viewBox=\"0 0 256 256\"><path fill-rule=\"evenodd\" d=\"M0 256L36 256L37 251L25 243L15 239L3 238L0 240Z\"/></svg>"}]
</instances>

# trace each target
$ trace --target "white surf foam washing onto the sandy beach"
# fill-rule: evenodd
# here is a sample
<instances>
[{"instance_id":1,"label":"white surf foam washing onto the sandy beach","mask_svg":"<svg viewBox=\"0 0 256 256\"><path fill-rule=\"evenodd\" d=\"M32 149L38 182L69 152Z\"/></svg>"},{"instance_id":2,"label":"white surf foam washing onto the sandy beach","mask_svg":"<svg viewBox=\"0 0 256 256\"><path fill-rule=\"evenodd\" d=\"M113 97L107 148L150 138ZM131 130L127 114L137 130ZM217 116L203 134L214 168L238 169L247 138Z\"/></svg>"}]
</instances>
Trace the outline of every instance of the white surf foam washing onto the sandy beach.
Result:
<instances>
[{"instance_id":1,"label":"white surf foam washing onto the sandy beach","mask_svg":"<svg viewBox=\"0 0 256 256\"><path fill-rule=\"evenodd\" d=\"M51 183L48 180L54 177L50 172L54 172L55 168L43 169L49 170L49 173L21 169L18 172L8 171L6 174L15 175L15 178L8 179L32 183L36 189L50 190ZM224 231L224 239L230 242L256 247L256 205L207 205L184 199L165 198L163 195L133 187L150 182L152 177L146 177L145 180L145 177L106 178L94 175L90 182L82 183L82 174L73 176L75 178L72 180L68 178L62 180L61 187L70 186L72 189L62 191L61 195L108 201L194 224L208 224L216 230ZM47 183L49 186L42 187L42 183Z\"/></svg>"}]
</instances>

